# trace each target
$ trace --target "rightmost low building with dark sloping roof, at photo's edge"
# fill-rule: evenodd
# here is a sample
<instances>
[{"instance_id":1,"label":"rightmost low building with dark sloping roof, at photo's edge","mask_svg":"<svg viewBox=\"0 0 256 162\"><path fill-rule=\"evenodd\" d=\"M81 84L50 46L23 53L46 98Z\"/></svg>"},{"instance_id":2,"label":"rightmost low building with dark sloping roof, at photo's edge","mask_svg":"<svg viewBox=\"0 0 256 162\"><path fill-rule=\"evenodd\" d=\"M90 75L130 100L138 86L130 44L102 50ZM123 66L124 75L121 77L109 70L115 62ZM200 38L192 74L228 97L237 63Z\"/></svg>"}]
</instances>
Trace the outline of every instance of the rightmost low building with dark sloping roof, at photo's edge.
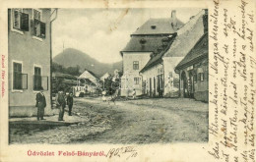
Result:
<instances>
[{"instance_id":1,"label":"rightmost low building with dark sloping roof, at photo's edge","mask_svg":"<svg viewBox=\"0 0 256 162\"><path fill-rule=\"evenodd\" d=\"M180 96L208 102L208 32L176 66L180 78Z\"/></svg>"}]
</instances>

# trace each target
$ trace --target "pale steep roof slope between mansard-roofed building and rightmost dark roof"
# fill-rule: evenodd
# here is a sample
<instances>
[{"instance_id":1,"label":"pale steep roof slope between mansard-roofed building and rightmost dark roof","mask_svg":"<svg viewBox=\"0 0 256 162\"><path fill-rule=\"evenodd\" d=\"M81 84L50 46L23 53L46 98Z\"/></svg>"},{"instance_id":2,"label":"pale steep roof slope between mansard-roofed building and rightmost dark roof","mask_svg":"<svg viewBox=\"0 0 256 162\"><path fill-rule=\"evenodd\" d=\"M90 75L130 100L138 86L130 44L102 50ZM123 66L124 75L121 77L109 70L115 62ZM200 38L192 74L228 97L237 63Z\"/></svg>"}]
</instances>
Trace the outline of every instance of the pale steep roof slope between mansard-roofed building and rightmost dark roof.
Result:
<instances>
[{"instance_id":1,"label":"pale steep roof slope between mansard-roofed building and rightmost dark roof","mask_svg":"<svg viewBox=\"0 0 256 162\"><path fill-rule=\"evenodd\" d=\"M197 41L204 34L202 10L193 19L191 19L184 27L177 31L177 36L173 41L169 50L164 54L164 57L184 57L193 48Z\"/></svg>"}]
</instances>

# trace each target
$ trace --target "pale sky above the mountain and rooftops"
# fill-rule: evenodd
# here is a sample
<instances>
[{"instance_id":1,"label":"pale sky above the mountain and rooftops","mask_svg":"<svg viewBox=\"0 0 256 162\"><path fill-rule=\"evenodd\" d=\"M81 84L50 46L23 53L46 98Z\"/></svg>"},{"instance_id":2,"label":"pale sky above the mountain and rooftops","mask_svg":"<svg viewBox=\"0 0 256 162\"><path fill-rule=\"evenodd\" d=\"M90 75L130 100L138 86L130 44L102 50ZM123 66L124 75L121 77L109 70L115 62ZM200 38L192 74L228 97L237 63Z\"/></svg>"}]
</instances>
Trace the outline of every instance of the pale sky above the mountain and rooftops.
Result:
<instances>
[{"instance_id":1,"label":"pale sky above the mountain and rooftops","mask_svg":"<svg viewBox=\"0 0 256 162\"><path fill-rule=\"evenodd\" d=\"M53 57L66 48L87 53L101 63L122 60L120 51L130 34L150 18L170 18L172 10L183 23L202 9L58 9L52 25Z\"/></svg>"}]
</instances>

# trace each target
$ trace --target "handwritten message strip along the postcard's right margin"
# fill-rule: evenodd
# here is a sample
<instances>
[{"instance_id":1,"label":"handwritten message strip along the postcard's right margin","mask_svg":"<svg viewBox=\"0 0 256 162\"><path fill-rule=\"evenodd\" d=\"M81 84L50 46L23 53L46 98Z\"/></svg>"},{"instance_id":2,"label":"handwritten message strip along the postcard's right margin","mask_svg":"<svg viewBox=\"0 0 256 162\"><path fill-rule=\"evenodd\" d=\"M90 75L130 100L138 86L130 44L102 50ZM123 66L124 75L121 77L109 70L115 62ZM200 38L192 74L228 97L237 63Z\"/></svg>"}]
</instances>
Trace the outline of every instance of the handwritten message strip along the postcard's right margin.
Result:
<instances>
[{"instance_id":1,"label":"handwritten message strip along the postcard's right margin","mask_svg":"<svg viewBox=\"0 0 256 162\"><path fill-rule=\"evenodd\" d=\"M213 3L208 153L220 161L255 162L255 5L249 0Z\"/></svg>"}]
</instances>

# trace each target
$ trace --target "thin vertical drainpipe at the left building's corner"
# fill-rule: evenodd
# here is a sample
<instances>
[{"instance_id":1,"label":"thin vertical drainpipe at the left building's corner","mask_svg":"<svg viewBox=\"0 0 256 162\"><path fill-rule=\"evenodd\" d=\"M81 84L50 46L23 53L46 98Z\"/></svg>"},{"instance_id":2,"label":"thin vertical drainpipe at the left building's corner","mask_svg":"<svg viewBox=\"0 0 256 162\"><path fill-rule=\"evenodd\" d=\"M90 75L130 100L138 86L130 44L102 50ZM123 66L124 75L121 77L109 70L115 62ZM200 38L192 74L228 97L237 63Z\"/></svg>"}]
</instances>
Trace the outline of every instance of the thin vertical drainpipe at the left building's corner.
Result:
<instances>
[{"instance_id":1,"label":"thin vertical drainpipe at the left building's corner","mask_svg":"<svg viewBox=\"0 0 256 162\"><path fill-rule=\"evenodd\" d=\"M58 16L58 9L55 9L50 17L53 15L53 13L56 12L55 17L53 18L53 20L50 21L50 27L49 27L49 32L50 32L50 105L51 108L53 108L53 104L52 104L52 37L51 37L51 29L52 29L52 23L53 21L55 21L57 19Z\"/></svg>"}]
</instances>

